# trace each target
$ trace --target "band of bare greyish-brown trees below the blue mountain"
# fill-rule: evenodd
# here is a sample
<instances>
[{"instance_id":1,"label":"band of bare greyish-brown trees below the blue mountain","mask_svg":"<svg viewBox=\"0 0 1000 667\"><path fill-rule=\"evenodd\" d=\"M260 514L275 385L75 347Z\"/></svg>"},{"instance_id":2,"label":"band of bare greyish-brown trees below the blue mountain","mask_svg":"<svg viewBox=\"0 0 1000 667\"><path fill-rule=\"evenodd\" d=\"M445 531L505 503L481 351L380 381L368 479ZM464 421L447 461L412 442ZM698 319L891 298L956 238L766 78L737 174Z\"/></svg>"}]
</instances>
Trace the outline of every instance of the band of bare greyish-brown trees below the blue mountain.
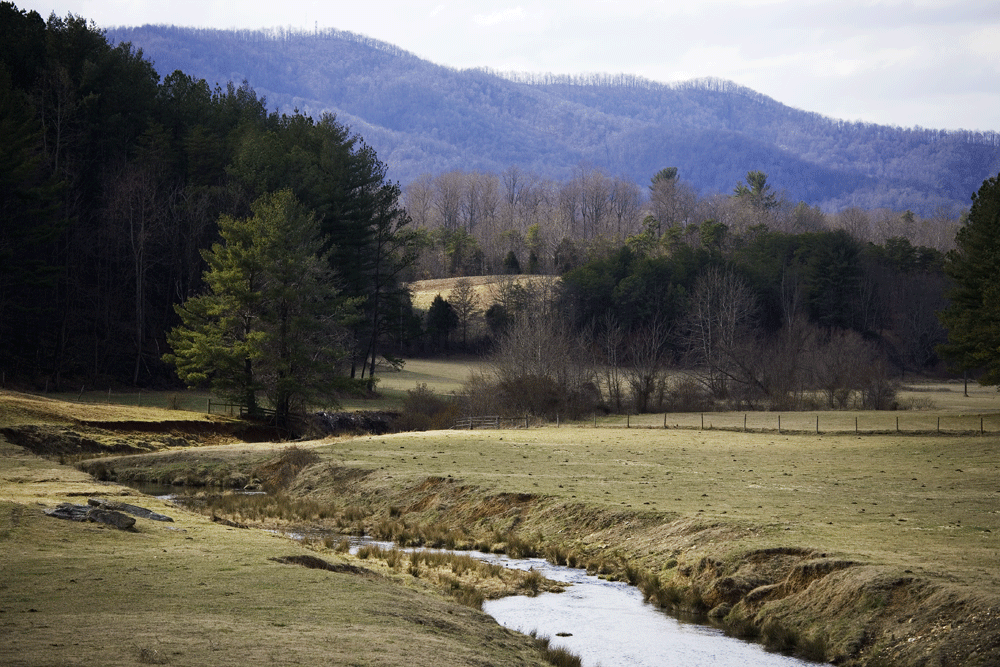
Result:
<instances>
[{"instance_id":1,"label":"band of bare greyish-brown trees below the blue mountain","mask_svg":"<svg viewBox=\"0 0 1000 667\"><path fill-rule=\"evenodd\" d=\"M517 273L563 274L595 253L626 243L733 247L767 230L786 234L843 230L861 244L906 239L947 252L963 217L939 211L850 207L824 213L792 202L753 170L725 194L698 195L676 167L646 187L581 164L552 180L511 166L500 173L424 174L403 201L413 220L417 279Z\"/></svg>"}]
</instances>

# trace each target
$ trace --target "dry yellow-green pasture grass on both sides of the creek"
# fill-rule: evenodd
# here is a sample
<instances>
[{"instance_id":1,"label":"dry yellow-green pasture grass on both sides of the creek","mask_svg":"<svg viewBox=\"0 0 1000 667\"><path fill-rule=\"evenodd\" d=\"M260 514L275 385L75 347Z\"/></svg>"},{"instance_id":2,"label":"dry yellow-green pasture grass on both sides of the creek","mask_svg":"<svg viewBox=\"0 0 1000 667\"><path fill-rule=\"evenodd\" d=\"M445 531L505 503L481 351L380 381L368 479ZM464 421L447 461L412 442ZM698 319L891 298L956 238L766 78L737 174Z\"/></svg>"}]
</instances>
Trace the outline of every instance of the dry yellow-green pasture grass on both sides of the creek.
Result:
<instances>
[{"instance_id":1,"label":"dry yellow-green pasture grass on both sides of the creek","mask_svg":"<svg viewBox=\"0 0 1000 667\"><path fill-rule=\"evenodd\" d=\"M413 382L445 393L460 383L468 366L461 361L418 362L403 372L411 375L400 373L399 391ZM937 433L929 425L936 426L938 417L960 425L978 425L980 418L995 424L990 420L997 413L996 393L970 387L967 403L960 384L908 391L919 395L923 409L790 413L782 415L790 420L782 432L768 427L774 414L746 415L744 431L742 413L711 413L705 415L709 423L704 429L700 414L667 415L669 428L663 428L661 414L604 417L596 428L586 420L558 427L317 440L298 445L318 454L321 462L301 473L294 492L329 504L340 516L350 514L367 529L391 523L394 515L411 527L421 522L448 526L450 521L456 528L474 529L469 517L492 506L494 499L531 498L534 509L520 515L519 530L539 546L634 564L629 567L656 572L668 561L693 565L706 558L741 567L746 554L806 550L864 564L857 570L867 582L862 586L887 576L908 576L929 582L933 590L944 586L954 591L949 599L958 600L959 608L992 604L1000 596L1000 433L986 429L983 435L975 428ZM821 425L830 420L829 430L815 432L817 414ZM923 421L919 429L901 428L900 433L890 428L853 432L855 418L894 424L897 415ZM761 420L757 427L751 428L751 418ZM223 418L0 394L5 426L99 422L108 428L114 421L134 425L159 420L161 429L170 430L200 419ZM698 421L679 424L682 419ZM846 428L835 429L838 419ZM374 577L277 565L268 559L303 548L266 533L212 523L162 501L143 503L173 513L178 522L144 526L138 535L44 517L41 506L132 492L27 454L2 438L0 445L0 540L5 542L0 564L19 582L17 590L0 589L0 606L10 612L7 623L20 633L18 643L0 654L5 664L52 664L77 653L96 656L102 664L237 664L250 655L272 662L287 657L310 664L352 664L352 656L368 650L361 648L363 643L377 646L380 664L422 664L423 657L410 659L406 647L431 636L442 651L453 652L451 664L464 664L479 633L493 637L491 660L536 660L520 638L489 629L489 622L475 613L459 612L439 600L422 601L427 594L436 595L426 581L402 575L383 579L386 571L374 563L366 566L376 568ZM206 444L107 459L102 465L123 476L183 468L190 480L208 471L210 463L211 474L221 477L227 470L245 473L286 447ZM334 470L364 473L358 483L344 486L334 483ZM602 519L600 529L581 531L580 521L591 520L586 517L613 520ZM496 535L496 527L484 529ZM341 559L329 553L324 557ZM251 580L252 590L245 584ZM137 598L135 591L142 596ZM157 603L144 606L144 598ZM911 606L894 607L893 618L917 614L921 600L915 590ZM971 606L963 606L967 604ZM387 618L378 611L385 608L399 613ZM123 609L127 622L111 623ZM430 619L431 625L417 627L413 619ZM888 632L866 625L870 621L864 616L852 619L847 624L851 636ZM81 639L83 628L95 622L113 629L100 640L91 635ZM830 620L817 616L811 622L826 627ZM926 623L937 620L928 617ZM436 627L450 629L440 635ZM916 633L911 635L893 629L896 644L889 635L883 639L888 647L926 646L920 650L930 651L932 644L911 645L904 639L919 635L925 638L920 641L929 641L929 627L914 624L907 628ZM996 639L992 626L978 632L976 641ZM847 639L838 641L838 651L850 650ZM330 653L322 648L331 645L343 649Z\"/></svg>"}]
</instances>

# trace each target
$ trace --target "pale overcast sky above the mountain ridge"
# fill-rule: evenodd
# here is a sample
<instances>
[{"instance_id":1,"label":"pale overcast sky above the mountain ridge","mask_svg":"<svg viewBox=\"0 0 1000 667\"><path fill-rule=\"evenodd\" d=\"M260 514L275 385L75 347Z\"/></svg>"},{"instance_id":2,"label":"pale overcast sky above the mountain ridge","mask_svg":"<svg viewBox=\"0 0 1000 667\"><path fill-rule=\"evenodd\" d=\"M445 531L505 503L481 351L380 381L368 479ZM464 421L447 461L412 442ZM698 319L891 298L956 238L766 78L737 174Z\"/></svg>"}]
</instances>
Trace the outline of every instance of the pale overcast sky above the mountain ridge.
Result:
<instances>
[{"instance_id":1,"label":"pale overcast sky above the mountain ridge","mask_svg":"<svg viewBox=\"0 0 1000 667\"><path fill-rule=\"evenodd\" d=\"M834 118L1000 130L996 0L14 0L101 27L338 28L441 65L729 79Z\"/></svg>"}]
</instances>

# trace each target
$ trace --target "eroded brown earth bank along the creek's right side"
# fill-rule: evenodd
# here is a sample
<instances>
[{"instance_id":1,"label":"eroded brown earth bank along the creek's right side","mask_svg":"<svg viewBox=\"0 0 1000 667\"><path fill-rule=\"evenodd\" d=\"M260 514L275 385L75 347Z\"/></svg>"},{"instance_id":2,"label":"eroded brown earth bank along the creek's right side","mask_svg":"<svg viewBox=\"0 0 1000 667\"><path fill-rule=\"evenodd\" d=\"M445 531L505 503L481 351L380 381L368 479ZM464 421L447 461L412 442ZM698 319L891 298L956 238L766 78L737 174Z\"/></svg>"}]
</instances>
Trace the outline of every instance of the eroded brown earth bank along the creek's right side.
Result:
<instances>
[{"instance_id":1,"label":"eroded brown earth bank along the creek's right side","mask_svg":"<svg viewBox=\"0 0 1000 667\"><path fill-rule=\"evenodd\" d=\"M324 479L331 480L326 488ZM342 504L364 507L371 514L353 528L386 537L452 530L458 546L492 542L507 548L514 541L515 550L534 549L560 564L628 580L653 604L708 614L734 634L810 659L1000 664L995 596L814 549L733 551L730 545L753 526L495 494L446 478L406 487L376 472L336 479L316 466L304 470L289 492L329 493Z\"/></svg>"}]
</instances>

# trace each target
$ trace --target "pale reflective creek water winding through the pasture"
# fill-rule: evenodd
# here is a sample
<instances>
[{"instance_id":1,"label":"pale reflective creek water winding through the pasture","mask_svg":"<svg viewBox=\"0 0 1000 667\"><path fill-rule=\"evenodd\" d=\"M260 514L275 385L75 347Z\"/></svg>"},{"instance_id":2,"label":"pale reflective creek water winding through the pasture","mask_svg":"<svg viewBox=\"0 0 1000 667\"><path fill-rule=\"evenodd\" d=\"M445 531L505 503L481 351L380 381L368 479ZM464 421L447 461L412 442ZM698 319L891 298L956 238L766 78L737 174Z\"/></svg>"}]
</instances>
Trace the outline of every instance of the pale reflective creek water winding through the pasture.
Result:
<instances>
[{"instance_id":1,"label":"pale reflective creek water winding through the pasture","mask_svg":"<svg viewBox=\"0 0 1000 667\"><path fill-rule=\"evenodd\" d=\"M169 487L147 486L142 490L160 496L176 492ZM288 536L300 540L305 537L295 533ZM393 546L370 538L351 538L351 541L352 551L361 544ZM550 646L579 656L584 667L815 667L817 664L768 652L758 644L727 637L717 628L678 620L647 604L636 587L588 575L586 570L553 565L541 558L459 553L513 569L536 570L548 579L570 584L562 593L490 600L483 603L483 611L511 630L548 637Z\"/></svg>"}]
</instances>

